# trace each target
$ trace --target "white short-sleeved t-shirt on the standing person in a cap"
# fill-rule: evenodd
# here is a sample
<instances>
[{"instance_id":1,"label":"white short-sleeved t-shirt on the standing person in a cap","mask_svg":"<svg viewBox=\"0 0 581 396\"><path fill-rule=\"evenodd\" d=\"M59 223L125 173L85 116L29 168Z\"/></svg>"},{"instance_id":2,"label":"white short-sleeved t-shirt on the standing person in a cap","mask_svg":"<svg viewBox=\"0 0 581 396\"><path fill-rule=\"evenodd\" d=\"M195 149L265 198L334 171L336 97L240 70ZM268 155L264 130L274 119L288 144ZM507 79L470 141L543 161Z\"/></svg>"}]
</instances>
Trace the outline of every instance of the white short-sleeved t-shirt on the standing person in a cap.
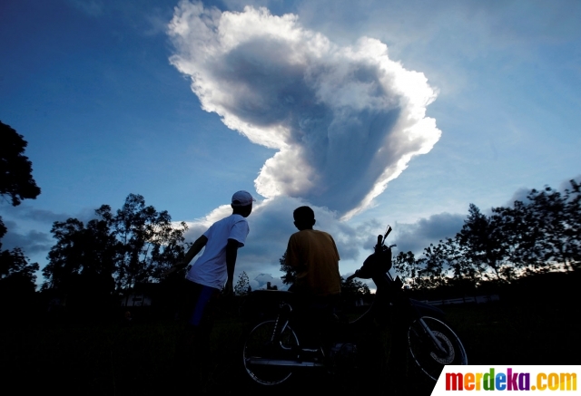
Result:
<instances>
[{"instance_id":1,"label":"white short-sleeved t-shirt on the standing person in a cap","mask_svg":"<svg viewBox=\"0 0 581 396\"><path fill-rule=\"evenodd\" d=\"M248 232L248 222L241 215L231 215L216 221L203 233L208 238L205 249L186 275L188 280L200 285L222 290L228 280L226 268L226 245L228 239L238 241L244 246Z\"/></svg>"}]
</instances>

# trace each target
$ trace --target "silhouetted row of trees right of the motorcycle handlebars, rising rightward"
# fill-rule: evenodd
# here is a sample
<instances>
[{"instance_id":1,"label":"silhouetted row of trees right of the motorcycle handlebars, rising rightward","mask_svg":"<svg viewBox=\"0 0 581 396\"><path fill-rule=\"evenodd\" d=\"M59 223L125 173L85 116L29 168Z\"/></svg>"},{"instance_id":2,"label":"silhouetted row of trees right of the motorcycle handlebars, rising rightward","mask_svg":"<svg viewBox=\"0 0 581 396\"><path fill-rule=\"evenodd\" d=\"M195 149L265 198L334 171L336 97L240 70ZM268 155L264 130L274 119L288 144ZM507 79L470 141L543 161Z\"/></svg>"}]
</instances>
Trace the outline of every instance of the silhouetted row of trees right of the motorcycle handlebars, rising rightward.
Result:
<instances>
[{"instance_id":1,"label":"silhouetted row of trees right of the motorcycle handlebars, rising rightward","mask_svg":"<svg viewBox=\"0 0 581 396\"><path fill-rule=\"evenodd\" d=\"M474 288L509 284L527 275L577 271L581 265L581 184L564 191L532 189L512 207L483 214L470 204L454 237L424 248L419 257L400 252L393 266L413 289Z\"/></svg>"}]
</instances>

